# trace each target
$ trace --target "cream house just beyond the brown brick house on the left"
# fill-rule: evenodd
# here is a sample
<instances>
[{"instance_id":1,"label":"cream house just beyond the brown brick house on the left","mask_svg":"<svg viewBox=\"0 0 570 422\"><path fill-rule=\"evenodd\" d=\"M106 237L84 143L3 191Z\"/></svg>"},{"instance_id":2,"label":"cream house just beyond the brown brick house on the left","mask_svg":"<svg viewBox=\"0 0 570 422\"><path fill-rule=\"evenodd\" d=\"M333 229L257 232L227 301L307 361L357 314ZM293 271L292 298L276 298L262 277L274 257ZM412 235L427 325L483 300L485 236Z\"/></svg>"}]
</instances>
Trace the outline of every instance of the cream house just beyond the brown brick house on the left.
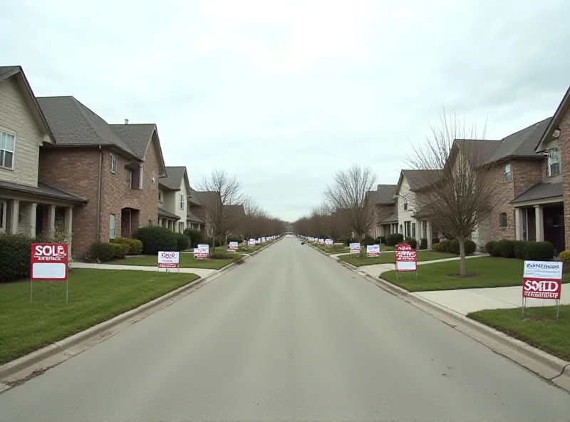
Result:
<instances>
[{"instance_id":1,"label":"cream house just beyond the brown brick house on the left","mask_svg":"<svg viewBox=\"0 0 570 422\"><path fill-rule=\"evenodd\" d=\"M187 222L190 181L184 166L167 167L167 177L158 182L158 225L183 233Z\"/></svg>"}]
</instances>

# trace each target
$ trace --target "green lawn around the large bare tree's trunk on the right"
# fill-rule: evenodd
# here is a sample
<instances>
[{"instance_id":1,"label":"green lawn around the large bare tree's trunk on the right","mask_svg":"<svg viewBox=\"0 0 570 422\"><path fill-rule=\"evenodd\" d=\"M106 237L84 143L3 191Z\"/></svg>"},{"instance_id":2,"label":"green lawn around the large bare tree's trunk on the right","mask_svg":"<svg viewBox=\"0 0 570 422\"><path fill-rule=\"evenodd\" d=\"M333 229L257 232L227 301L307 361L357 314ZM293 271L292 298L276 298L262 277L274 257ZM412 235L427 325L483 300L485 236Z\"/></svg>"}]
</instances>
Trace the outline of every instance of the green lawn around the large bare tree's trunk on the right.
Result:
<instances>
[{"instance_id":1,"label":"green lawn around the large bare tree's trunk on the right","mask_svg":"<svg viewBox=\"0 0 570 422\"><path fill-rule=\"evenodd\" d=\"M381 277L409 292L522 286L523 266L522 259L480 257L467 259L467 272L471 273L472 277L453 275L460 272L459 261L420 265L417 279L413 272L400 273L396 279L395 271L388 271L383 272ZM570 273L564 274L564 282L569 281Z\"/></svg>"}]
</instances>

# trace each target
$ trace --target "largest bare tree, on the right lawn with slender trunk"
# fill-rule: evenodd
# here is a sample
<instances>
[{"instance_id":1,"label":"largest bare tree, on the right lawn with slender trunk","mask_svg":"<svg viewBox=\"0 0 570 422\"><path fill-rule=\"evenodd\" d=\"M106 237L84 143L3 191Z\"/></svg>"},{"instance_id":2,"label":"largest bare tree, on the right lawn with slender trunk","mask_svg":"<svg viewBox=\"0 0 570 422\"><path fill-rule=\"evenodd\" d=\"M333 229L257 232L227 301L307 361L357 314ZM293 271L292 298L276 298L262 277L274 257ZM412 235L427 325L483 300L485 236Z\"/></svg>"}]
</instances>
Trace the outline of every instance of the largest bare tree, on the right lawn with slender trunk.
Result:
<instances>
[{"instance_id":1,"label":"largest bare tree, on the right lawn with slender trunk","mask_svg":"<svg viewBox=\"0 0 570 422\"><path fill-rule=\"evenodd\" d=\"M430 127L425 143L406 157L415 170L424 170L418 172L424 187L416 196L416 205L430 218L432 227L457 239L460 274L465 277L465 240L497 205L497 169L489 160L497 142L484 140L484 130L477 138L475 125L468 126L455 115L449 118L445 110L440 124Z\"/></svg>"}]
</instances>

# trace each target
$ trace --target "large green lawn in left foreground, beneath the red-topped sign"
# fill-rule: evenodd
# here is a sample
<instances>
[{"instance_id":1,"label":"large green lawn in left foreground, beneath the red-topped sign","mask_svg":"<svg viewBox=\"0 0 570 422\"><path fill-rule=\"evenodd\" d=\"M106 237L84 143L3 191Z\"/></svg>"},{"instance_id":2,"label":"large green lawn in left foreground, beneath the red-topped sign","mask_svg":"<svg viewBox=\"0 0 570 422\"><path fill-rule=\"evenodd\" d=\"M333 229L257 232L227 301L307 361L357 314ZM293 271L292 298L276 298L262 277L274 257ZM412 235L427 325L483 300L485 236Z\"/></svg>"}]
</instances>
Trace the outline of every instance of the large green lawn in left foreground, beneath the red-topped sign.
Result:
<instances>
[{"instance_id":1,"label":"large green lawn in left foreground, beneath the red-topped sign","mask_svg":"<svg viewBox=\"0 0 570 422\"><path fill-rule=\"evenodd\" d=\"M188 284L196 274L70 269L66 283L0 283L0 364Z\"/></svg>"}]
</instances>

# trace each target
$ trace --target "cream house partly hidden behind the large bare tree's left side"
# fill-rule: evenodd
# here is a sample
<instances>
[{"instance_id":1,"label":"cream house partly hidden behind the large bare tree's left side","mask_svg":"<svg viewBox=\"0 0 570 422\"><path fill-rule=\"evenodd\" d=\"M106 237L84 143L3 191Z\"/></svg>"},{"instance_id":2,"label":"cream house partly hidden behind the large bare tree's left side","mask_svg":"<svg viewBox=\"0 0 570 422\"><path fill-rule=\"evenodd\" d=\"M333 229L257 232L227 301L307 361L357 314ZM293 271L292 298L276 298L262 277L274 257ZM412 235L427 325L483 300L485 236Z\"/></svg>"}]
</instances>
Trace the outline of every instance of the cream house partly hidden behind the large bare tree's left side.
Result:
<instances>
[{"instance_id":1,"label":"cream house partly hidden behind the large bare tree's left side","mask_svg":"<svg viewBox=\"0 0 570 422\"><path fill-rule=\"evenodd\" d=\"M439 234L432 233L429 215L420 209L417 195L421 194L421 190L427 187L431 180L435 180L439 172L440 170L402 170L395 188L398 201L398 233L416 240L426 239L428 248L431 247L434 235L439 237Z\"/></svg>"}]
</instances>

